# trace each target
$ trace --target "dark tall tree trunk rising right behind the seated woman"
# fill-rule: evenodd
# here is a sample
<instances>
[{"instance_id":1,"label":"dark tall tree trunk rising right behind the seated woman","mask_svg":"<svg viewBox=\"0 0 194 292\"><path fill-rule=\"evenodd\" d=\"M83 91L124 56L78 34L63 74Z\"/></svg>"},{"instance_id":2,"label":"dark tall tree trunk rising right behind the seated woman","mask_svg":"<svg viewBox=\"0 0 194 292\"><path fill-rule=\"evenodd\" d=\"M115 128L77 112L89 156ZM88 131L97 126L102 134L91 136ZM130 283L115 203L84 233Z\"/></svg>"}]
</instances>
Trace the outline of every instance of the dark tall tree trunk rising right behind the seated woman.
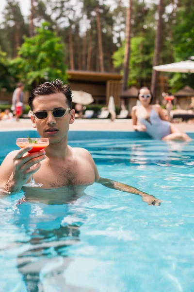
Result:
<instances>
[{"instance_id":1,"label":"dark tall tree trunk rising right behind the seated woman","mask_svg":"<svg viewBox=\"0 0 194 292\"><path fill-rule=\"evenodd\" d=\"M162 42L162 14L163 14L163 0L160 0L158 5L158 26L155 38L155 48L154 48L154 61L153 66L158 66L160 64L160 52L161 52L161 42ZM151 78L151 91L154 96L154 102L156 102L156 92L158 85L158 71L152 71Z\"/></svg>"}]
</instances>

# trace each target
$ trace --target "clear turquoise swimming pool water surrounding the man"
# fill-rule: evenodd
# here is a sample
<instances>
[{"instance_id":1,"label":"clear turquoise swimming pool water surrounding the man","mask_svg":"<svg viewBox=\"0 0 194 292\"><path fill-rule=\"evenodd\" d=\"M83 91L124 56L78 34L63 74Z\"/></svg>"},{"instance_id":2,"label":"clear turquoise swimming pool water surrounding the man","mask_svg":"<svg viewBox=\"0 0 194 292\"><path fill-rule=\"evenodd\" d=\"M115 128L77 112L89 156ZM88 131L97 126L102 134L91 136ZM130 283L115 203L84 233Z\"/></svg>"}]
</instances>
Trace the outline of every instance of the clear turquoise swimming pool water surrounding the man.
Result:
<instances>
[{"instance_id":1,"label":"clear turquoise swimming pool water surrounding the man","mask_svg":"<svg viewBox=\"0 0 194 292\"><path fill-rule=\"evenodd\" d=\"M17 204L23 193L1 199L2 291L194 291L194 142L72 135L69 144L91 152L100 176L163 202L148 206L97 183L73 204Z\"/></svg>"}]
</instances>

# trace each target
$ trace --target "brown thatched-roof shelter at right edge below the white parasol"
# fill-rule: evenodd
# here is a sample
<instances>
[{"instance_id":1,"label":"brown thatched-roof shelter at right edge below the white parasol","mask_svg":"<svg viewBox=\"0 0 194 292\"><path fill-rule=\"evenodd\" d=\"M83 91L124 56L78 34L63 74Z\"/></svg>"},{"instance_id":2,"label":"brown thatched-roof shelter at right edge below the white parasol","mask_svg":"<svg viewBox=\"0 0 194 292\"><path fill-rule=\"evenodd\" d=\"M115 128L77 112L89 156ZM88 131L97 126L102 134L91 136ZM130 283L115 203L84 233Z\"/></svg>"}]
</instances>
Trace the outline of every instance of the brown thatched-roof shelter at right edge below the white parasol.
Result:
<instances>
[{"instance_id":1,"label":"brown thatched-roof shelter at right edge below the white parasol","mask_svg":"<svg viewBox=\"0 0 194 292\"><path fill-rule=\"evenodd\" d=\"M182 110L189 110L190 105L194 104L194 90L190 86L183 87L174 96L176 97L176 104Z\"/></svg>"}]
</instances>

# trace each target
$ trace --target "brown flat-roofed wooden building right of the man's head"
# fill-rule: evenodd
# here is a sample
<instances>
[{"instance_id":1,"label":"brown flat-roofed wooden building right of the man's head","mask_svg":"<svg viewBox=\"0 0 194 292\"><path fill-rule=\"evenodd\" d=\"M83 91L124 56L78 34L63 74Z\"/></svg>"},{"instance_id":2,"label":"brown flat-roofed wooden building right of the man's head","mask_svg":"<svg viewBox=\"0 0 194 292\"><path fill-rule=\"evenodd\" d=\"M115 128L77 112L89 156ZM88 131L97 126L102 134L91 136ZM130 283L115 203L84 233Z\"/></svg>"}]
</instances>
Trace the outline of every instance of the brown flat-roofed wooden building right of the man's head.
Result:
<instances>
[{"instance_id":1,"label":"brown flat-roofed wooden building right of the man's head","mask_svg":"<svg viewBox=\"0 0 194 292\"><path fill-rule=\"evenodd\" d=\"M92 94L95 104L108 105L109 97L113 95L115 105L120 106L122 75L79 70L67 70L67 74L71 89Z\"/></svg>"}]
</instances>

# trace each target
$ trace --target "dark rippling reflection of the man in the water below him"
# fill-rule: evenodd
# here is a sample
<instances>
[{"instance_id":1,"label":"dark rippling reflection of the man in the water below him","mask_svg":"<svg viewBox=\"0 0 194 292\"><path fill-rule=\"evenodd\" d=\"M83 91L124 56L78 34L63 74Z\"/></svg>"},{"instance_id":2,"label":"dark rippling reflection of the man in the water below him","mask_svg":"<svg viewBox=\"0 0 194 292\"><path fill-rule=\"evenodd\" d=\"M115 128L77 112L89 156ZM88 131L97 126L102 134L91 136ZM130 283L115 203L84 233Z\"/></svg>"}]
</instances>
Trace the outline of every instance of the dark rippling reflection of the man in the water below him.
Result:
<instances>
[{"instance_id":1,"label":"dark rippling reflection of the man in the water below him","mask_svg":"<svg viewBox=\"0 0 194 292\"><path fill-rule=\"evenodd\" d=\"M68 247L79 243L79 227L86 219L85 212L76 205L81 197L82 202L90 200L84 192L86 187L52 190L24 187L25 192L12 206L6 198L6 208L11 207L12 211L12 224L17 232L20 229L25 234L25 239L7 242L1 249L6 253L17 250L16 268L26 285L25 288L22 284L18 286L18 291L47 291L46 287L50 290L52 285L55 290L73 289L72 285L65 285L63 273L73 260L68 256Z\"/></svg>"}]
</instances>

